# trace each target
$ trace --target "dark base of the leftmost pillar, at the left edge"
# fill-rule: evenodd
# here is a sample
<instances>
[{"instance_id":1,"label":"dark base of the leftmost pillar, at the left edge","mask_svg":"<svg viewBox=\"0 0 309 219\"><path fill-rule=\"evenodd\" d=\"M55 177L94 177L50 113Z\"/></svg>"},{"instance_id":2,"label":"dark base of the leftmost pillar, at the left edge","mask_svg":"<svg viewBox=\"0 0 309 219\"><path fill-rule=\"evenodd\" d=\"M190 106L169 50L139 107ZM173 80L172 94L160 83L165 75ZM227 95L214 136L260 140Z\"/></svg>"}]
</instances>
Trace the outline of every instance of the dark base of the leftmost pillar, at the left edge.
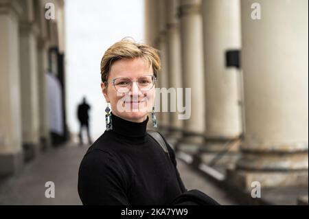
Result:
<instances>
[{"instance_id":1,"label":"dark base of the leftmost pillar, at the left edge","mask_svg":"<svg viewBox=\"0 0 309 219\"><path fill-rule=\"evenodd\" d=\"M0 176L19 174L23 167L23 153L0 154Z\"/></svg>"}]
</instances>

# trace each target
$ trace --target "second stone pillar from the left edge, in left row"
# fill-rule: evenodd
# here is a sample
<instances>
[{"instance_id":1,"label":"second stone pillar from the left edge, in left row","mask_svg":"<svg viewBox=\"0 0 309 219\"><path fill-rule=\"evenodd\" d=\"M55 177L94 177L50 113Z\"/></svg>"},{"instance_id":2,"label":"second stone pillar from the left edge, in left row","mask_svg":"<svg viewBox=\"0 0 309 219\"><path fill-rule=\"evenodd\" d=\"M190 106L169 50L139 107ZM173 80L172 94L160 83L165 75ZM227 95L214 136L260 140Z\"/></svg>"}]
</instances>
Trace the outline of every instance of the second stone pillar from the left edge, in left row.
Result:
<instances>
[{"instance_id":1,"label":"second stone pillar from the left edge, in left row","mask_svg":"<svg viewBox=\"0 0 309 219\"><path fill-rule=\"evenodd\" d=\"M19 27L21 67L21 115L25 160L33 159L38 152L40 137L38 111L38 27L34 24L33 1L21 1L23 16Z\"/></svg>"}]
</instances>

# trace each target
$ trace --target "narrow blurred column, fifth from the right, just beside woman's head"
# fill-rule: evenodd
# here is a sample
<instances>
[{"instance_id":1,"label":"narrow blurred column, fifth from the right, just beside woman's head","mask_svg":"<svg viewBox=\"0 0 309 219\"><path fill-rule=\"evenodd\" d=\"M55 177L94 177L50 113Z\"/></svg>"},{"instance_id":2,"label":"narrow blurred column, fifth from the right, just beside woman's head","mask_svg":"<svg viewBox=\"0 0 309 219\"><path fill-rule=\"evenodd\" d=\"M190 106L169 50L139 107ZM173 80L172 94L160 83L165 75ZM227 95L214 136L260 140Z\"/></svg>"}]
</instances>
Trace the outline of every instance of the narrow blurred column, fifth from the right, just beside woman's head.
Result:
<instances>
[{"instance_id":1,"label":"narrow blurred column, fifth from the right, just beside woman's head","mask_svg":"<svg viewBox=\"0 0 309 219\"><path fill-rule=\"evenodd\" d=\"M161 88L161 124L160 128L163 128L163 134L166 128L170 127L170 113L168 95L164 89L169 89L168 82L168 49L167 49L167 35L166 35L166 17L165 17L165 0L157 1L158 5L158 20L159 20L159 38L158 38L158 47L160 50L161 58L161 72L158 74L159 84ZM157 93L157 98L159 98L159 93Z\"/></svg>"}]
</instances>

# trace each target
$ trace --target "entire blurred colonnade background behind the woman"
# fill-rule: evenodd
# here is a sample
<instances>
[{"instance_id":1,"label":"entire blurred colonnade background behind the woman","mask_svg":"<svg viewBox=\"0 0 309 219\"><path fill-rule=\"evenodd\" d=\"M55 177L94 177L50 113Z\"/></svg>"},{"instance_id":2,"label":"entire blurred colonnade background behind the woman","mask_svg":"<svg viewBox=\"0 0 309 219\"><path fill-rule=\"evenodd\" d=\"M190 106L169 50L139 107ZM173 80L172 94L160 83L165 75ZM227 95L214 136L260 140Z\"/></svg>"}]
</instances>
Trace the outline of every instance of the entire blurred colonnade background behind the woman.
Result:
<instances>
[{"instance_id":1,"label":"entire blurred colonnade background behind the woman","mask_svg":"<svg viewBox=\"0 0 309 219\"><path fill-rule=\"evenodd\" d=\"M179 88L157 130L187 189L308 205L307 0L0 0L1 205L81 205L78 167L106 126L100 61L127 36L159 49L157 87Z\"/></svg>"}]
</instances>

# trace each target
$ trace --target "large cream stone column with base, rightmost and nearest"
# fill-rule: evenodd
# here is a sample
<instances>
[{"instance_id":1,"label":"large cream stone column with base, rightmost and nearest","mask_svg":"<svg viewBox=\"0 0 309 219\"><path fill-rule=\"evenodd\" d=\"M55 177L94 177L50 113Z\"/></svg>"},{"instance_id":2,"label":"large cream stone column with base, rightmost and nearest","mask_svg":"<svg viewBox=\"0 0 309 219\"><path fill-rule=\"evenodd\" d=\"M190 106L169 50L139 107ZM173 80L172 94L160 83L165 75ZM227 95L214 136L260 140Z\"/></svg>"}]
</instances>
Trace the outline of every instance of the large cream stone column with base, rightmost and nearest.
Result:
<instances>
[{"instance_id":1,"label":"large cream stone column with base, rightmost and nearest","mask_svg":"<svg viewBox=\"0 0 309 219\"><path fill-rule=\"evenodd\" d=\"M308 1L244 0L241 10L246 133L228 181L308 186Z\"/></svg>"}]
</instances>

